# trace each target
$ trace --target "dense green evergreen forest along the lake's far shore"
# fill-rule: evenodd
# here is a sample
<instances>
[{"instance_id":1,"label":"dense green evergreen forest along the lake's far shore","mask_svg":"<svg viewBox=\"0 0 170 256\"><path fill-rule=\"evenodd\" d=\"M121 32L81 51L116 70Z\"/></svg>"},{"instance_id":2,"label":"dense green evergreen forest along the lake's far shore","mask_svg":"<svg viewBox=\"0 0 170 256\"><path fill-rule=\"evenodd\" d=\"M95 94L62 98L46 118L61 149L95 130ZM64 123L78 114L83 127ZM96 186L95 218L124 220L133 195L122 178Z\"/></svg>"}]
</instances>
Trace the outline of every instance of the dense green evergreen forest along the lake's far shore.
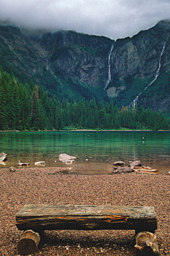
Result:
<instances>
[{"instance_id":1,"label":"dense green evergreen forest along the lake's far shore","mask_svg":"<svg viewBox=\"0 0 170 256\"><path fill-rule=\"evenodd\" d=\"M58 102L30 81L22 85L14 75L0 67L0 129L170 129L162 112L122 107L113 101L105 105L96 100Z\"/></svg>"}]
</instances>

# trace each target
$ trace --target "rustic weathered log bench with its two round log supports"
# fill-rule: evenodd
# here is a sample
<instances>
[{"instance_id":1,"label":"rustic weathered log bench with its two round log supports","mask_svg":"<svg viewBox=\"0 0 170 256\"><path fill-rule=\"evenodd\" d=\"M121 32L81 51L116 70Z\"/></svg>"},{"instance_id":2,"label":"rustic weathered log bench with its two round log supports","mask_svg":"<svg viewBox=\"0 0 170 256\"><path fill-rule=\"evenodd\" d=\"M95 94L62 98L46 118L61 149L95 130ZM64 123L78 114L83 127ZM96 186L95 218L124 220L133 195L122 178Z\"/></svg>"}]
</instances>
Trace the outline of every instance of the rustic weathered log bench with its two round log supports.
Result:
<instances>
[{"instance_id":1,"label":"rustic weathered log bench with its two round log supports","mask_svg":"<svg viewBox=\"0 0 170 256\"><path fill-rule=\"evenodd\" d=\"M142 250L153 243L157 247L157 216L151 206L26 204L16 214L16 226L25 230L17 246L20 255L37 249L44 230L135 230L136 239L142 234L135 247Z\"/></svg>"}]
</instances>

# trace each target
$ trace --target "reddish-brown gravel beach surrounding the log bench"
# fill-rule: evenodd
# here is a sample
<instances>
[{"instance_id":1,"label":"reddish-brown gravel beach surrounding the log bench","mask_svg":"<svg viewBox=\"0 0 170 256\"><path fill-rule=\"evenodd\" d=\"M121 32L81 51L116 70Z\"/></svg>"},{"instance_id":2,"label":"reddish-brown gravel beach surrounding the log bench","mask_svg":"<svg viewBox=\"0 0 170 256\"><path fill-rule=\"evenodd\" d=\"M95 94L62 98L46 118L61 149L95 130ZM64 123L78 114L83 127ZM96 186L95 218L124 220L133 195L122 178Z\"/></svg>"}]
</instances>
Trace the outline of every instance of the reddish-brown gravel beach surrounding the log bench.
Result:
<instances>
[{"instance_id":1,"label":"reddish-brown gravel beach surrounding the log bench","mask_svg":"<svg viewBox=\"0 0 170 256\"><path fill-rule=\"evenodd\" d=\"M68 168L66 168L68 169ZM170 255L170 176L75 175L62 168L0 169L0 255L18 255L16 213L26 203L154 206L159 255ZM33 255L137 255L135 230L45 231ZM144 255L144 254L142 254Z\"/></svg>"}]
</instances>

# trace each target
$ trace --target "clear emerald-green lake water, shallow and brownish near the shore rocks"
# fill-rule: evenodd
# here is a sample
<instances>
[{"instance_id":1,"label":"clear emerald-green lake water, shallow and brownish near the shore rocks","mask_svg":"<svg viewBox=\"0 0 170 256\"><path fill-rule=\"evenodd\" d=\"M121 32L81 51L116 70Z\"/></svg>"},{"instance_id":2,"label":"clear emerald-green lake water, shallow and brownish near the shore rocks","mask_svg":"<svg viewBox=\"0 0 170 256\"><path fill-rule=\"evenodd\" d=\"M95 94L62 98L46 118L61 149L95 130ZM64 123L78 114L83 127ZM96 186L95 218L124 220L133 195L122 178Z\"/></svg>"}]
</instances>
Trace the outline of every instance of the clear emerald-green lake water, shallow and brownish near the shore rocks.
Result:
<instances>
[{"instance_id":1,"label":"clear emerald-green lake water, shallow and brownish near the shore rocks","mask_svg":"<svg viewBox=\"0 0 170 256\"><path fill-rule=\"evenodd\" d=\"M58 160L65 153L77 156L70 165L72 173L110 174L114 161L140 160L169 174L170 132L4 132L0 133L0 152L8 154L6 165L0 168L17 166L18 161L30 167L35 161L69 167Z\"/></svg>"}]
</instances>

